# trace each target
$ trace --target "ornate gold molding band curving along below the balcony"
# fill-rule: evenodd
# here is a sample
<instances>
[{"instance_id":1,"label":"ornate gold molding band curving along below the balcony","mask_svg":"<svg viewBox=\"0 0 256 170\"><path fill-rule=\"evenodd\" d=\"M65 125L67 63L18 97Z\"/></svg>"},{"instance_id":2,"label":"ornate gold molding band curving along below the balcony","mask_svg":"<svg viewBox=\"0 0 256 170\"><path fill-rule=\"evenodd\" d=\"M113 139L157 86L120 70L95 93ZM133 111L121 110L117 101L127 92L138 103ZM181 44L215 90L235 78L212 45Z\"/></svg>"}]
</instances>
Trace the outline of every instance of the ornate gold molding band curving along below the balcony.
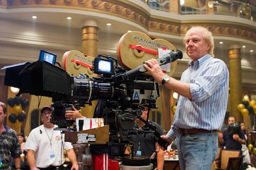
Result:
<instances>
[{"instance_id":1,"label":"ornate gold molding band curving along below the balcony","mask_svg":"<svg viewBox=\"0 0 256 170\"><path fill-rule=\"evenodd\" d=\"M244 25L237 22L223 22L215 20L181 21L170 20L150 15L137 4L129 1L111 0L8 0L1 1L0 7L14 9L21 7L54 7L77 10L90 10L108 15L125 18L142 25L146 30L156 33L168 33L175 36L184 36L187 30L194 25L207 27L215 36L226 36L247 39L256 42L256 26ZM243 26L241 26L243 24Z\"/></svg>"}]
</instances>

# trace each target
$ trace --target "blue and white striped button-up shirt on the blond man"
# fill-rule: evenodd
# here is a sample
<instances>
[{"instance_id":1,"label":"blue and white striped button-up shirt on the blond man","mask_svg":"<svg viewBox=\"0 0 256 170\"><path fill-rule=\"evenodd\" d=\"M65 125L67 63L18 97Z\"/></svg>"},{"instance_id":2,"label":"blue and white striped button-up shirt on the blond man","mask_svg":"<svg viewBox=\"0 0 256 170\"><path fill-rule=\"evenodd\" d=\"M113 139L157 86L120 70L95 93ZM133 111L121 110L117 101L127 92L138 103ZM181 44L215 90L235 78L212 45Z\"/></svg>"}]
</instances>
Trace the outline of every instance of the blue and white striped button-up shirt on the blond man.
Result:
<instances>
[{"instance_id":1,"label":"blue and white striped button-up shirt on the blond man","mask_svg":"<svg viewBox=\"0 0 256 170\"><path fill-rule=\"evenodd\" d=\"M182 73L181 81L189 83L192 99L179 95L173 125L167 136L175 139L178 128L220 129L229 92L229 71L226 64L207 54Z\"/></svg>"}]
</instances>

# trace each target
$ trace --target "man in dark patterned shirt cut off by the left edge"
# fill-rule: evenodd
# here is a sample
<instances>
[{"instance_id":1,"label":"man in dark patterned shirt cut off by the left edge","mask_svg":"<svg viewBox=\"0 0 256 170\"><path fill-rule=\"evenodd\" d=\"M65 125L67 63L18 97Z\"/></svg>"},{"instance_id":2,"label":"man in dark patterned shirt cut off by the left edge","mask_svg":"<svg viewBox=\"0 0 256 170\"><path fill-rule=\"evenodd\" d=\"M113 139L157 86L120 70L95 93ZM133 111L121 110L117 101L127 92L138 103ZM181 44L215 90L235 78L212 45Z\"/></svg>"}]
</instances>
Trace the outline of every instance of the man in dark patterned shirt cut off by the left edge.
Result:
<instances>
[{"instance_id":1,"label":"man in dark patterned shirt cut off by the left edge","mask_svg":"<svg viewBox=\"0 0 256 170\"><path fill-rule=\"evenodd\" d=\"M7 115L6 104L0 102L0 169L12 169L12 158L15 169L20 169L21 148L14 129L4 124Z\"/></svg>"}]
</instances>

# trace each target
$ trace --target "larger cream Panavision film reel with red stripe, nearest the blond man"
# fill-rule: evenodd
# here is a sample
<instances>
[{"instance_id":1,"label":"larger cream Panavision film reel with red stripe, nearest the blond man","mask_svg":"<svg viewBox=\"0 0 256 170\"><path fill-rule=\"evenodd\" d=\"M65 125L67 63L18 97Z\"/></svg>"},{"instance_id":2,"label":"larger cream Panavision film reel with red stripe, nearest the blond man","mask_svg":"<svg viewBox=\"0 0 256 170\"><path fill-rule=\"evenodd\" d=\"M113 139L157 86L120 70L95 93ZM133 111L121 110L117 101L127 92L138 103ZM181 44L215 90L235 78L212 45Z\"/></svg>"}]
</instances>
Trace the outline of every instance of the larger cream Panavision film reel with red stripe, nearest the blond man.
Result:
<instances>
[{"instance_id":1,"label":"larger cream Panavision film reel with red stripe, nearest the blond man","mask_svg":"<svg viewBox=\"0 0 256 170\"><path fill-rule=\"evenodd\" d=\"M164 39L151 39L145 33L132 31L124 34L117 44L117 61L127 70L134 69L149 59L158 59L158 49L176 51L170 42ZM173 75L177 61L171 63L168 75ZM144 73L148 75L149 73Z\"/></svg>"}]
</instances>

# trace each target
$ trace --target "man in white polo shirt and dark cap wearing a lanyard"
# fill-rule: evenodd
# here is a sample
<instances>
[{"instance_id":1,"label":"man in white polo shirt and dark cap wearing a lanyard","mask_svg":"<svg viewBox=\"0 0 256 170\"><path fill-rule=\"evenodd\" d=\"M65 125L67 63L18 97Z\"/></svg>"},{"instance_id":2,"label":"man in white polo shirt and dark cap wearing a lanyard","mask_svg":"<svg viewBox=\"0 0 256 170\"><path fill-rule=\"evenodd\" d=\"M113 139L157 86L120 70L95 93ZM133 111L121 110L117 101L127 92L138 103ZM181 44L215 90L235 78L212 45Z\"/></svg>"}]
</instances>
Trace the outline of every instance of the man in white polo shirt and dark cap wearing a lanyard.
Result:
<instances>
[{"instance_id":1,"label":"man in white polo shirt and dark cap wearing a lanyard","mask_svg":"<svg viewBox=\"0 0 256 170\"><path fill-rule=\"evenodd\" d=\"M64 163L64 150L72 163L71 170L78 170L77 157L70 142L64 141L64 134L58 127L51 123L53 109L45 106L41 109L42 125L33 129L25 143L24 150L27 152L27 161L31 170L37 169L61 169Z\"/></svg>"}]
</instances>

